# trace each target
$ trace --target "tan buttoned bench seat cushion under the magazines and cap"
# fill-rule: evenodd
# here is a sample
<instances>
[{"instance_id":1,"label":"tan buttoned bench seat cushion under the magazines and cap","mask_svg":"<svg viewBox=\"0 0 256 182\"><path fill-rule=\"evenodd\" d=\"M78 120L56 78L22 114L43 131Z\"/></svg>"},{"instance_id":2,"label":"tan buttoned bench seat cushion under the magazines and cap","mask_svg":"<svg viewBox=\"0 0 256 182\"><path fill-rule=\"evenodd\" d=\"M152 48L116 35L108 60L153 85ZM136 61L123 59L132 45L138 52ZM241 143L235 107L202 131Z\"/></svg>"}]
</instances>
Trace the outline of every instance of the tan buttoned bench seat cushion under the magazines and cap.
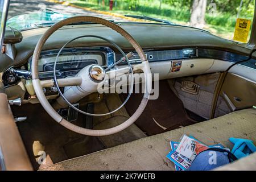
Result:
<instances>
[{"instance_id":1,"label":"tan buttoned bench seat cushion under the magazines and cap","mask_svg":"<svg viewBox=\"0 0 256 182\"><path fill-rule=\"evenodd\" d=\"M166 158L170 141L179 141L183 134L201 142L222 144L232 148L230 137L256 141L256 110L236 111L195 125L135 140L79 158L65 160L43 170L175 170ZM75 148L74 148L75 150Z\"/></svg>"}]
</instances>

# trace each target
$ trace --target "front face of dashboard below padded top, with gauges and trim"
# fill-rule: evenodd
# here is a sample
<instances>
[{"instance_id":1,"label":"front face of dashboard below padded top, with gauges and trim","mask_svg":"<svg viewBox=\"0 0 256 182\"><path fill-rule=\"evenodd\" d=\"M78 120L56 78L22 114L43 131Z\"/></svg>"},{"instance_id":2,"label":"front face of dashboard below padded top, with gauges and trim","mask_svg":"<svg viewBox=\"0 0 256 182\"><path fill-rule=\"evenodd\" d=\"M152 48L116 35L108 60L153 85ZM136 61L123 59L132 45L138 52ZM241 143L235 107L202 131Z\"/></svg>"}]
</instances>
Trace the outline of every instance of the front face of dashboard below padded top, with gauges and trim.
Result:
<instances>
[{"instance_id":1,"label":"front face of dashboard below padded top, with gauges and trim","mask_svg":"<svg viewBox=\"0 0 256 182\"><path fill-rule=\"evenodd\" d=\"M41 52L38 63L40 80L53 78L53 65L59 50L60 49L49 49ZM128 51L126 51L126 53L128 53ZM159 73L160 79L224 71L227 65L219 70L213 69L210 71L210 68L213 67L214 61L216 62L216 60L225 61L230 65L248 58L247 56L237 55L232 52L205 48L183 48L172 50L150 49L144 50L144 53L152 65L151 72ZM56 63L56 76L57 78L75 76L82 68L92 64L98 64L107 68L122 57L123 55L121 53L115 52L112 48L107 46L64 48ZM137 52L133 52L133 56L130 57L129 61L131 64L141 63L141 59ZM241 64L246 67L254 68L255 60L246 61ZM32 56L29 57L26 67L23 67L23 71L20 70L18 73L12 74L10 73L10 70L7 69L2 76L5 87L18 84L20 78L24 78L22 72L26 72L26 70L27 75L31 75L31 65ZM123 61L117 66L124 67L126 65L126 61ZM27 80L30 79L28 77L26 78Z\"/></svg>"}]
</instances>

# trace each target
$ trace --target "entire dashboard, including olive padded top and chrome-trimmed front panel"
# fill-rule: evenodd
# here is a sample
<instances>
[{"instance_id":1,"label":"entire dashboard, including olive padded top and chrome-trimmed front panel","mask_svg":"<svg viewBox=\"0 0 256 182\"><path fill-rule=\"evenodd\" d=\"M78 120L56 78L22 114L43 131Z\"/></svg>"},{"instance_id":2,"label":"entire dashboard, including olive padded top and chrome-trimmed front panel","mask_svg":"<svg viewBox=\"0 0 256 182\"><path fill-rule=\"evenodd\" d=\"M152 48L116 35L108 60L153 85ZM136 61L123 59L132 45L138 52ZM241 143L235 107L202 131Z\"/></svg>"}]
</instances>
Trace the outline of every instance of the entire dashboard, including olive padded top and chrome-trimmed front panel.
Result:
<instances>
[{"instance_id":1,"label":"entire dashboard, including olive padded top and chrome-trimmed front panel","mask_svg":"<svg viewBox=\"0 0 256 182\"><path fill-rule=\"evenodd\" d=\"M151 72L159 73L159 79L201 75L225 71L230 65L249 58L249 49L209 34L206 31L189 27L167 26L156 24L119 24L128 31L142 46L150 62ZM23 31L22 42L15 44L14 60L1 54L0 70L2 81L10 98L24 95L24 86L20 82L31 77L31 62L34 48L47 28L36 28ZM171 32L171 34L170 34ZM112 40L125 53L133 51L133 47L113 30L99 25L66 26L51 36L41 52L39 60L39 78L48 80L53 77L53 64L60 47L68 40L81 35L98 35ZM67 36L69 35L69 36ZM122 55L111 44L95 38L86 38L72 42L70 48L65 48L57 61L57 78L76 75L82 68L90 64L109 67ZM131 64L139 64L141 60L137 52L130 58ZM126 62L117 67L125 67ZM242 68L255 70L255 60L243 62ZM10 72L10 69L18 72ZM246 71L240 74L246 76ZM54 93L53 93L54 94ZM55 93L56 94L56 93ZM21 96L22 98L24 96Z\"/></svg>"}]
</instances>

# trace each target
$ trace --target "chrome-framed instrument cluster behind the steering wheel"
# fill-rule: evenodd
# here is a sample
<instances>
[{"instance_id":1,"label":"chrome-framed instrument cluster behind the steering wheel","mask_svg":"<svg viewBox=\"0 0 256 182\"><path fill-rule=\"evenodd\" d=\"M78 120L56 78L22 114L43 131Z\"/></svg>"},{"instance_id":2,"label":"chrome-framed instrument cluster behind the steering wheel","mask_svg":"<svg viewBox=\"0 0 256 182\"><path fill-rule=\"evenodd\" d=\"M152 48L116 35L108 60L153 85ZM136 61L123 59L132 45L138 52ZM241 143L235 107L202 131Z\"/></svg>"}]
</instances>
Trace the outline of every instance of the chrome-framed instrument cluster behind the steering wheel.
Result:
<instances>
[{"instance_id":1,"label":"chrome-framed instrument cluster behind the steering wheel","mask_svg":"<svg viewBox=\"0 0 256 182\"><path fill-rule=\"evenodd\" d=\"M53 67L59 49L42 51L38 63L38 72L40 79L53 77ZM80 47L64 48L60 53L56 63L57 78L76 75L82 68L98 64L102 67L108 67L115 61L114 51L109 47ZM28 61L28 70L30 71L32 57Z\"/></svg>"}]
</instances>

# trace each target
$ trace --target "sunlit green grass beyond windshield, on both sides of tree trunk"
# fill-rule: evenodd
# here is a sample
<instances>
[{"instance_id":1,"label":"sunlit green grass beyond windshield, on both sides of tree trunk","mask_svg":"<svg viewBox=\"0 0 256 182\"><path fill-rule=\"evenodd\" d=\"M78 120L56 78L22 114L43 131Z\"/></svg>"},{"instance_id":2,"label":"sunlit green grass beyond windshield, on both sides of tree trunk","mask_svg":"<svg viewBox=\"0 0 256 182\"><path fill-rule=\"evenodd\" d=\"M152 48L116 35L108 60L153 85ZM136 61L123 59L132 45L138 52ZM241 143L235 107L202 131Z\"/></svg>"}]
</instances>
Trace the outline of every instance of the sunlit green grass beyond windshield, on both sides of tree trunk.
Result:
<instances>
[{"instance_id":1,"label":"sunlit green grass beyond windshield, on both sides of tree trunk","mask_svg":"<svg viewBox=\"0 0 256 182\"><path fill-rule=\"evenodd\" d=\"M137 6L137 9L131 9L126 3L119 5L119 7L113 7L113 10L109 10L109 6L106 3L105 7L98 5L98 3L81 0L66 0L73 5L81 7L89 7L93 10L109 11L117 14L129 14L129 15L146 15L153 18L166 19L170 22L189 26L189 19L191 16L190 10L175 9L170 5L162 5L162 9L159 10L158 5L150 6ZM107 1L106 1L107 2ZM233 39L234 27L236 26L236 16L230 14L217 14L215 16L205 15L206 25L205 30L212 32L212 34L221 36L225 39Z\"/></svg>"}]
</instances>

